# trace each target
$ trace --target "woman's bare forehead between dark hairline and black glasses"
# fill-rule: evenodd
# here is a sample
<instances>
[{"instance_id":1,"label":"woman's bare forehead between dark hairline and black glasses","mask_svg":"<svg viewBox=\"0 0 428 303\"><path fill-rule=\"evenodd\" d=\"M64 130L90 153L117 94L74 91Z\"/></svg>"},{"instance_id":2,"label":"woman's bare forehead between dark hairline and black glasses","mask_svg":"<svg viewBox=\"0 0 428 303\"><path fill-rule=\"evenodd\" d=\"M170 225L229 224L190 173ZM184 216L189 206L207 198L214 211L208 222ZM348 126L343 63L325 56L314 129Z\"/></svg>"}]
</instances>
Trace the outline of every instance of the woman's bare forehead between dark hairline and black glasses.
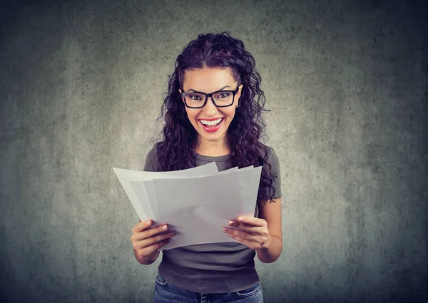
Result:
<instances>
[{"instance_id":1,"label":"woman's bare forehead between dark hairline and black glasses","mask_svg":"<svg viewBox=\"0 0 428 303\"><path fill-rule=\"evenodd\" d=\"M235 83L230 68L196 68L185 71L183 89L195 91L215 91Z\"/></svg>"}]
</instances>

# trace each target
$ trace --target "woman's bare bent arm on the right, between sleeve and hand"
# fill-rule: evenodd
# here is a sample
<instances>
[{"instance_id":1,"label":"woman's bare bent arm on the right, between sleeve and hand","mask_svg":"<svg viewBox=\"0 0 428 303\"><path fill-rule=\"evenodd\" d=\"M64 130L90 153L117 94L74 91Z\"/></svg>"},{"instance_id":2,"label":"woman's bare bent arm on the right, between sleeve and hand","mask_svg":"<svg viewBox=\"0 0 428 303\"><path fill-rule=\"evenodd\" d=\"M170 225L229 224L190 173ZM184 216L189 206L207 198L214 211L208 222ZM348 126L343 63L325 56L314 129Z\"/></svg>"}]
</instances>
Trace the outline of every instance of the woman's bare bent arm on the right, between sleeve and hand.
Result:
<instances>
[{"instance_id":1,"label":"woman's bare bent arm on the right, between sleeve and hand","mask_svg":"<svg viewBox=\"0 0 428 303\"><path fill-rule=\"evenodd\" d=\"M273 199L275 202L258 201L259 217L267 222L267 240L262 248L256 250L257 257L263 263L272 263L280 257L282 252L282 215L281 197Z\"/></svg>"}]
</instances>

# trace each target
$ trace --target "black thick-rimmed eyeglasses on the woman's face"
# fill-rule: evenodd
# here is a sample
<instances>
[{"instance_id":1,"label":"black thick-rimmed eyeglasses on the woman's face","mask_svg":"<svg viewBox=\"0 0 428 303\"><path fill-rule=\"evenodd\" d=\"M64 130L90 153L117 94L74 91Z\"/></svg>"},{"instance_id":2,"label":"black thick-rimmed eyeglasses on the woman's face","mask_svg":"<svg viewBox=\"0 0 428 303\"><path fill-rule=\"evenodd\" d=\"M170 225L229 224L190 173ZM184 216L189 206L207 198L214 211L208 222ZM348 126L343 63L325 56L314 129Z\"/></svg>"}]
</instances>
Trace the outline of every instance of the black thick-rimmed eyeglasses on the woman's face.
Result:
<instances>
[{"instance_id":1,"label":"black thick-rimmed eyeglasses on the woman's face","mask_svg":"<svg viewBox=\"0 0 428 303\"><path fill-rule=\"evenodd\" d=\"M183 88L181 89L183 90ZM185 106L188 108L203 108L208 101L208 97L211 97L214 105L218 108L225 108L233 104L238 90L239 86L235 89L235 91L215 91L214 93L190 91L188 93L181 93L181 96L183 96Z\"/></svg>"}]
</instances>

